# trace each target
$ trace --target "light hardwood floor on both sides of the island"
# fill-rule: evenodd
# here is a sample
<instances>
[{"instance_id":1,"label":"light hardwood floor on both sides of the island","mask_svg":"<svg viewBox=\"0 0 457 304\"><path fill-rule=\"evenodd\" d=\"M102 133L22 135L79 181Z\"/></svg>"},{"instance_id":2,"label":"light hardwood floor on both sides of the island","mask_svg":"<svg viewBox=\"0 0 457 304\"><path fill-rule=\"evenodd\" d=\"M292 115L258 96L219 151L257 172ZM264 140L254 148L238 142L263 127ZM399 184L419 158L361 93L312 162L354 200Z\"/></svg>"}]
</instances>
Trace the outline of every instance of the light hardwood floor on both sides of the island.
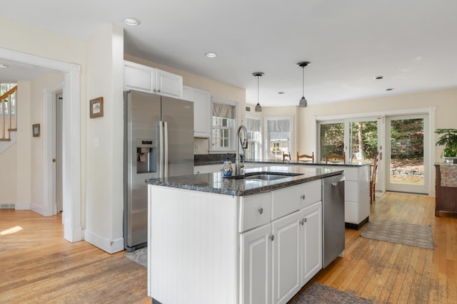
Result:
<instances>
[{"instance_id":1,"label":"light hardwood floor on both sides of the island","mask_svg":"<svg viewBox=\"0 0 457 304\"><path fill-rule=\"evenodd\" d=\"M434 206L427 196L377 198L371 219L431 225L435 249L365 239L364 227L346 229L343 258L305 288L318 281L376 303L457 303L457 214L436 217ZM21 230L4 234L14 227ZM146 268L125 252L111 255L62 236L61 216L0 210L0 303L151 303Z\"/></svg>"}]
</instances>

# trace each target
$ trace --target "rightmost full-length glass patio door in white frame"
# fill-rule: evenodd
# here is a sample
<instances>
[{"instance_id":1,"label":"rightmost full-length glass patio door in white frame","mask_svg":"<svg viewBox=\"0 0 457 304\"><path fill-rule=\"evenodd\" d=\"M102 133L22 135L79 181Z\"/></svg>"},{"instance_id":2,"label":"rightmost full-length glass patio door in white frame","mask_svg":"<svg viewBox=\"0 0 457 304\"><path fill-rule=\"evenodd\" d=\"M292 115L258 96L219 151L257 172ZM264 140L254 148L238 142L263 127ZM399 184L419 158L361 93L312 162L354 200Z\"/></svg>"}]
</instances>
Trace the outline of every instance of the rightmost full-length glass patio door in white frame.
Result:
<instances>
[{"instance_id":1,"label":"rightmost full-length glass patio door in white frame","mask_svg":"<svg viewBox=\"0 0 457 304\"><path fill-rule=\"evenodd\" d=\"M386 117L386 190L428 194L428 115Z\"/></svg>"}]
</instances>

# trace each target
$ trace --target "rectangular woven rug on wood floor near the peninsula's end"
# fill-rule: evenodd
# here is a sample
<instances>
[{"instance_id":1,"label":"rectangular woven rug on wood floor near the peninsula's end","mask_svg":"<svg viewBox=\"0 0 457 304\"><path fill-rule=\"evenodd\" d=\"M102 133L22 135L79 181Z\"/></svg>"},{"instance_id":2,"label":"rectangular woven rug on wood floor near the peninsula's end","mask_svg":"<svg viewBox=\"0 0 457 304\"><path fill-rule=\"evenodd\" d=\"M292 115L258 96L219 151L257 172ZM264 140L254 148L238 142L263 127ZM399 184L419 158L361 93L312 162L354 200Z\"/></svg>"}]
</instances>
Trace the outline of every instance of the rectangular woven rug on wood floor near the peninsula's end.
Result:
<instances>
[{"instance_id":1,"label":"rectangular woven rug on wood floor near the peninsula's end","mask_svg":"<svg viewBox=\"0 0 457 304\"><path fill-rule=\"evenodd\" d=\"M431 226L396 221L370 221L361 236L379 241L433 249Z\"/></svg>"}]
</instances>

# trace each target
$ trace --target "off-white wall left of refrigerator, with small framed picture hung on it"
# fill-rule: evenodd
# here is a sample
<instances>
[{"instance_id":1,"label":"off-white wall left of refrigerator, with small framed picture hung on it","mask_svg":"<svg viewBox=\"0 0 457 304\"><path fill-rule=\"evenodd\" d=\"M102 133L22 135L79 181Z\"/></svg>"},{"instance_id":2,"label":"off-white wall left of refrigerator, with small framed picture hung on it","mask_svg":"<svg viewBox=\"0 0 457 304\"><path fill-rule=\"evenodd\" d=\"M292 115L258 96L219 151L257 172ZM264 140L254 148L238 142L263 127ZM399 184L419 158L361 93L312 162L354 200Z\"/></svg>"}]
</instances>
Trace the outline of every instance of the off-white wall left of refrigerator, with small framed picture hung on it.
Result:
<instances>
[{"instance_id":1,"label":"off-white wall left of refrigerator, with small framed picture hung on it","mask_svg":"<svg viewBox=\"0 0 457 304\"><path fill-rule=\"evenodd\" d=\"M106 26L86 42L87 99L81 120L85 137L84 239L109 253L124 249L123 239L123 56L121 28ZM104 116L89 118L89 100L104 98Z\"/></svg>"}]
</instances>

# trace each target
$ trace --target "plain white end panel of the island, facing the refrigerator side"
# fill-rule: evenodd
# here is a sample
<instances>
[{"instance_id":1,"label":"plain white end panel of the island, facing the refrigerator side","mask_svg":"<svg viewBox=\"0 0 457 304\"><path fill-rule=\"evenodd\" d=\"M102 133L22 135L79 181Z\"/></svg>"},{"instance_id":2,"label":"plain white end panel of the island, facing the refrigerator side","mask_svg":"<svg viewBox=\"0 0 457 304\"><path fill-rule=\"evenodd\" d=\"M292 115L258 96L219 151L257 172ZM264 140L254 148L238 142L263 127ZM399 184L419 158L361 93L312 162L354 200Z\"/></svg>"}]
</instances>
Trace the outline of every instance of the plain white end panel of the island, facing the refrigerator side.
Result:
<instances>
[{"instance_id":1,"label":"plain white end panel of the island, facing the refrigerator side","mask_svg":"<svg viewBox=\"0 0 457 304\"><path fill-rule=\"evenodd\" d=\"M148 295L160 303L237 303L237 198L150 186L149 201Z\"/></svg>"}]
</instances>

